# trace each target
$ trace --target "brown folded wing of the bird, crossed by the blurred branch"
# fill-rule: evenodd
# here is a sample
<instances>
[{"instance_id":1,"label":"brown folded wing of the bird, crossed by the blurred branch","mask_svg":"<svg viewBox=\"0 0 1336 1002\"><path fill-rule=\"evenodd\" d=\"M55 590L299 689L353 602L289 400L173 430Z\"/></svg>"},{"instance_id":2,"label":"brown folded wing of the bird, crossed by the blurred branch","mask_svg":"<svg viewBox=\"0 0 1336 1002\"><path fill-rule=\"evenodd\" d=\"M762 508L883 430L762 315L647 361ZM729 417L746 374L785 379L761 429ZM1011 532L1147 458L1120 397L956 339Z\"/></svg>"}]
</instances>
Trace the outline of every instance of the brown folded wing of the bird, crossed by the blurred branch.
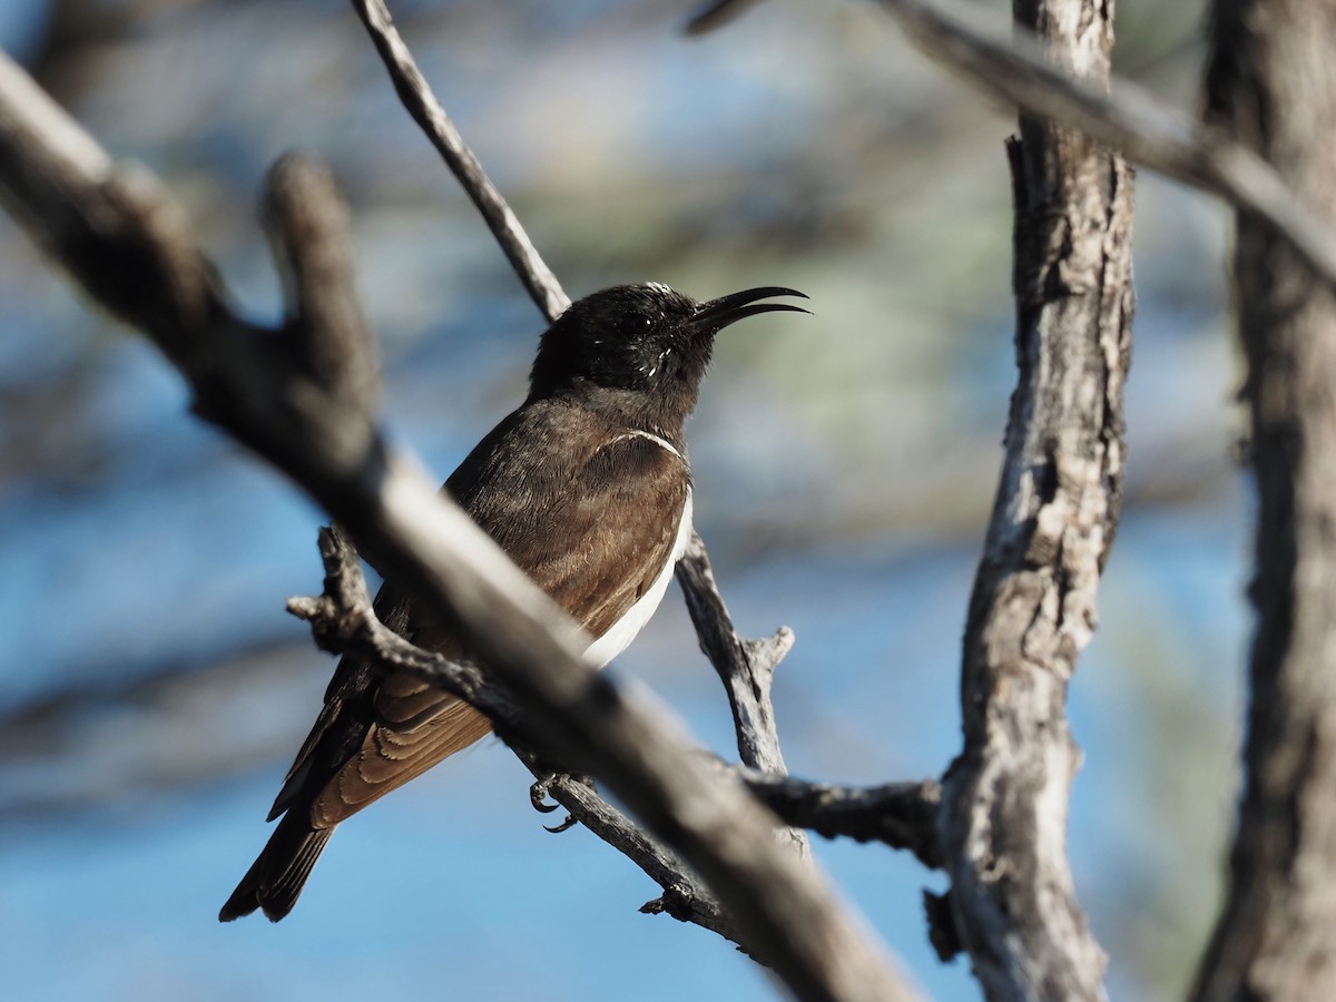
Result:
<instances>
[{"instance_id":1,"label":"brown folded wing of the bird, crossed by the blurred branch","mask_svg":"<svg viewBox=\"0 0 1336 1002\"><path fill-rule=\"evenodd\" d=\"M494 450L500 456L481 461L496 464L505 445ZM477 453L460 473L480 461ZM476 470L482 476L469 480L490 489L458 500L521 569L599 637L671 558L689 474L679 456L639 436L620 438L582 462L570 462L566 454L565 462L568 477L541 478L553 484L546 493L504 485ZM444 623L417 615L389 585L377 605L391 628L420 647L465 656ZM477 711L414 676L375 677L365 665L346 667L347 660L275 802L278 814L314 794L310 822L317 830L337 824L490 729Z\"/></svg>"}]
</instances>

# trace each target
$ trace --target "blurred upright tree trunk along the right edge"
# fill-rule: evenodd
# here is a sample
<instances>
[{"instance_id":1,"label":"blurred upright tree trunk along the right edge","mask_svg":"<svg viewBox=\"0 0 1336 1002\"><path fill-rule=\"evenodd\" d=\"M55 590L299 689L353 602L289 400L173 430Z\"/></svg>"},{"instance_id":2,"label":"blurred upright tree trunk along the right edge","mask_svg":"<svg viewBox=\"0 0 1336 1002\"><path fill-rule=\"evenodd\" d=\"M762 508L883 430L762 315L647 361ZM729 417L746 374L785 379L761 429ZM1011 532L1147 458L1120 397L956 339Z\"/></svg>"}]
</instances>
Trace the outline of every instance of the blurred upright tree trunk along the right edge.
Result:
<instances>
[{"instance_id":1,"label":"blurred upright tree trunk along the right edge","mask_svg":"<svg viewBox=\"0 0 1336 1002\"><path fill-rule=\"evenodd\" d=\"M1336 3L1220 0L1208 115L1336 222ZM1336 998L1336 294L1240 214L1259 512L1246 770L1197 999Z\"/></svg>"}]
</instances>

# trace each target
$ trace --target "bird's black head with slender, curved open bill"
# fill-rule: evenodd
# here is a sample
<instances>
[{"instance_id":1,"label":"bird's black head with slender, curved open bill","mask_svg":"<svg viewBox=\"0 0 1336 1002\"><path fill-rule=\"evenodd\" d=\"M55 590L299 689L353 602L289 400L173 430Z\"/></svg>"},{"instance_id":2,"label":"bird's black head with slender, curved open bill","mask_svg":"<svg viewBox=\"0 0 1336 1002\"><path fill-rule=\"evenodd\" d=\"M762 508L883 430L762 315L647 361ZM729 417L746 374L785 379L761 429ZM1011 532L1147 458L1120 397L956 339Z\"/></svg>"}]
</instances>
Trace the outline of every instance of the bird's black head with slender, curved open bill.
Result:
<instances>
[{"instance_id":1,"label":"bird's black head with slender, curved open bill","mask_svg":"<svg viewBox=\"0 0 1336 1002\"><path fill-rule=\"evenodd\" d=\"M748 289L697 303L648 282L587 295L542 335L530 397L582 394L595 406L624 411L636 426L676 437L696 406L720 330L759 313L807 313L788 303L759 302L776 295L803 294Z\"/></svg>"}]
</instances>

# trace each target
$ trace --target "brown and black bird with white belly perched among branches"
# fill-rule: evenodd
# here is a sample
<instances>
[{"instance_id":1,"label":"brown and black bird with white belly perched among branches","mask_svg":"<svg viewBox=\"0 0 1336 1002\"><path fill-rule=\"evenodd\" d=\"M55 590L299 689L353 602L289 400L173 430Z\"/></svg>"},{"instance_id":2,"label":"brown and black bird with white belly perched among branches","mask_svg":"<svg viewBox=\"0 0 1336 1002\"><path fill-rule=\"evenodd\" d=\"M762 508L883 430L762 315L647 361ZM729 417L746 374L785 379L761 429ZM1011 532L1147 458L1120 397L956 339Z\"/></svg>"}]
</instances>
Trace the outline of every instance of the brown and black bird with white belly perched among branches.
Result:
<instances>
[{"instance_id":1,"label":"brown and black bird with white belly perched among branches","mask_svg":"<svg viewBox=\"0 0 1336 1002\"><path fill-rule=\"evenodd\" d=\"M684 425L715 335L763 313L810 313L766 302L776 297L807 298L767 286L696 302L647 282L572 303L538 341L528 397L442 488L584 627L599 668L653 615L691 537ZM393 581L374 608L418 647L469 657ZM286 916L335 826L489 732L429 683L343 656L269 814L278 826L219 921Z\"/></svg>"}]
</instances>

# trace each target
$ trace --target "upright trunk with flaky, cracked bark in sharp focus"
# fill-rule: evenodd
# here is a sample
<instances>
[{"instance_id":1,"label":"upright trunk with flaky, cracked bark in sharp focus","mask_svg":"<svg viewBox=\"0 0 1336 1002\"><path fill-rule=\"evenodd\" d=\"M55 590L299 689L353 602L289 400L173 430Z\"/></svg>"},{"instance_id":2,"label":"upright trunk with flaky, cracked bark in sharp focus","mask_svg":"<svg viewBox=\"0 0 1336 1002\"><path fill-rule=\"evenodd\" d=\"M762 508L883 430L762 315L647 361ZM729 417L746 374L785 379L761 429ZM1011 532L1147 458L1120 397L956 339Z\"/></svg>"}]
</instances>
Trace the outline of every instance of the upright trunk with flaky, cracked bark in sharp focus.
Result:
<instances>
[{"instance_id":1,"label":"upright trunk with flaky, cracked bark in sharp focus","mask_svg":"<svg viewBox=\"0 0 1336 1002\"><path fill-rule=\"evenodd\" d=\"M1013 9L1055 63L1104 84L1112 7ZM1118 518L1132 172L1088 138L1027 116L1010 155L1019 379L966 624L965 751L945 779L939 824L955 933L987 997L1098 999L1105 957L1066 858L1079 751L1065 701Z\"/></svg>"}]
</instances>

